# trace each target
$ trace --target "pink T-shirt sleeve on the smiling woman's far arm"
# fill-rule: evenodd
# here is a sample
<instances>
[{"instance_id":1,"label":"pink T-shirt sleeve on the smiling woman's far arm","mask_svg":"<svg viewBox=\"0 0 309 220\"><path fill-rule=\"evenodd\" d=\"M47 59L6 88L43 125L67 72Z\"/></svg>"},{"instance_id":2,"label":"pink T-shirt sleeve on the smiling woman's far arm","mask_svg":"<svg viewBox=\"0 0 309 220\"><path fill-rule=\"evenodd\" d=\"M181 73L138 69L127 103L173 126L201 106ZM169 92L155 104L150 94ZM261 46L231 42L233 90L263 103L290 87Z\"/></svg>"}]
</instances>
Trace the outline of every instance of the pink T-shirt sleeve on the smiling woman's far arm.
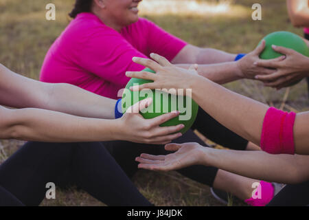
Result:
<instances>
[{"instance_id":1,"label":"pink T-shirt sleeve on the smiling woman's far arm","mask_svg":"<svg viewBox=\"0 0 309 220\"><path fill-rule=\"evenodd\" d=\"M148 52L164 56L168 61L172 59L187 45L187 43L176 36L166 32L151 21L148 23Z\"/></svg>"}]
</instances>

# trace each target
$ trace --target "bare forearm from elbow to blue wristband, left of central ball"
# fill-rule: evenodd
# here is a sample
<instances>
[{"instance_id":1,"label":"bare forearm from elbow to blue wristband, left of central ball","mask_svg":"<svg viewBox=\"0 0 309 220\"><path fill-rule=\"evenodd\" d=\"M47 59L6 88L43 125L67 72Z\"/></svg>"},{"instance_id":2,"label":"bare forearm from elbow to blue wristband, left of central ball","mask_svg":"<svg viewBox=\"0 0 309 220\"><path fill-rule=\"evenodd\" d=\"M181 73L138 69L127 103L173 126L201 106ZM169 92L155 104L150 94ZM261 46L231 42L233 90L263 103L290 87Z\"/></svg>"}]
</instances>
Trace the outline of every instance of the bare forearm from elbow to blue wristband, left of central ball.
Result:
<instances>
[{"instance_id":1,"label":"bare forearm from elbow to blue wristband, left of central ball","mask_svg":"<svg viewBox=\"0 0 309 220\"><path fill-rule=\"evenodd\" d=\"M48 102L44 109L88 118L114 119L116 102L73 85L54 84L49 85Z\"/></svg>"}]
</instances>

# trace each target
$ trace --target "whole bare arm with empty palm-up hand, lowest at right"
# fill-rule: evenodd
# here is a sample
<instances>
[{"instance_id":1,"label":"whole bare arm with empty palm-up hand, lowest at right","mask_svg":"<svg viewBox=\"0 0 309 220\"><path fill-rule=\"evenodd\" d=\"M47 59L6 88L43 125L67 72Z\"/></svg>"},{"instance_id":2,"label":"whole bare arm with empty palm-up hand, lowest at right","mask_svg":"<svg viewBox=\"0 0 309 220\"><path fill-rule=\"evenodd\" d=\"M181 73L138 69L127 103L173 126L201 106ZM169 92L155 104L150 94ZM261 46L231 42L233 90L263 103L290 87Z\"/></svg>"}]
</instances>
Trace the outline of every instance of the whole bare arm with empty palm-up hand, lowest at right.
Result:
<instances>
[{"instance_id":1,"label":"whole bare arm with empty palm-up hand, lowest at right","mask_svg":"<svg viewBox=\"0 0 309 220\"><path fill-rule=\"evenodd\" d=\"M196 164L215 166L253 179L297 184L309 179L308 155L271 155L263 151L231 151L201 146L198 143L168 144L169 155L141 154L139 168L177 170Z\"/></svg>"}]
</instances>

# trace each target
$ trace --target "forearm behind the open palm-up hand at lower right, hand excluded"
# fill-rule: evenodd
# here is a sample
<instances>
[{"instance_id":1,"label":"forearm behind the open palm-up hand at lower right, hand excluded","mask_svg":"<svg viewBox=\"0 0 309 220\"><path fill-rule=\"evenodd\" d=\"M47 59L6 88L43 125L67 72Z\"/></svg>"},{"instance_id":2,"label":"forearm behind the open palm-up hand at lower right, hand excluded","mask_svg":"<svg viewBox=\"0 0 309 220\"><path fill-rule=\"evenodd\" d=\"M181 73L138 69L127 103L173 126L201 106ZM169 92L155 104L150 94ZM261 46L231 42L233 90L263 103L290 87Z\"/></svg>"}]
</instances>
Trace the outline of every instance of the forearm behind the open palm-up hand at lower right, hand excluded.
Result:
<instances>
[{"instance_id":1,"label":"forearm behind the open palm-up hand at lower right, hand excluded","mask_svg":"<svg viewBox=\"0 0 309 220\"><path fill-rule=\"evenodd\" d=\"M309 179L308 156L271 155L262 151L203 149L203 165L253 179L297 184Z\"/></svg>"}]
</instances>

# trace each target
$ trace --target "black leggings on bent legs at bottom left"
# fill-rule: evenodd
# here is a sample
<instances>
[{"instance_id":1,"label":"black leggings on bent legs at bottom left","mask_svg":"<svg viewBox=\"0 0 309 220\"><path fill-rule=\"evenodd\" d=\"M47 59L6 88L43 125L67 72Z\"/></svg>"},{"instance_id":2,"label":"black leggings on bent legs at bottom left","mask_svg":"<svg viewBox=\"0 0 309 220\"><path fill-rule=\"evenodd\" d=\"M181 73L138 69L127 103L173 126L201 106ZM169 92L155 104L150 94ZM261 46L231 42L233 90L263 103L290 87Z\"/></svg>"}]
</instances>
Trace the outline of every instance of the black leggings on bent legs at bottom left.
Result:
<instances>
[{"instance_id":1,"label":"black leggings on bent legs at bottom left","mask_svg":"<svg viewBox=\"0 0 309 220\"><path fill-rule=\"evenodd\" d=\"M0 166L0 206L38 206L48 182L76 184L108 206L152 206L100 142L27 142Z\"/></svg>"}]
</instances>

